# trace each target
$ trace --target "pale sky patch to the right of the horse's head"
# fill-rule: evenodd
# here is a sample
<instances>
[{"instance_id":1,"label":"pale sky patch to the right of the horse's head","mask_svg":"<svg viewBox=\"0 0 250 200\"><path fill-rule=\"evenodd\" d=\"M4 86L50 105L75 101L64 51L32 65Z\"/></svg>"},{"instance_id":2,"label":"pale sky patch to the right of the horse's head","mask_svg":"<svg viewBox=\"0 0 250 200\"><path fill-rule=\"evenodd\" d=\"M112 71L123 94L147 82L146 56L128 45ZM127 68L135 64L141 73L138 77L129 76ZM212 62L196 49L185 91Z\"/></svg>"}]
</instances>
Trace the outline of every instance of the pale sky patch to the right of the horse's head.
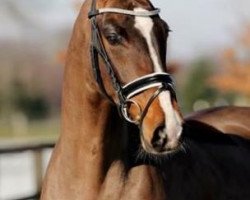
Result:
<instances>
[{"instance_id":1,"label":"pale sky patch to the right of the horse's head","mask_svg":"<svg viewBox=\"0 0 250 200\"><path fill-rule=\"evenodd\" d=\"M171 33L173 58L189 59L232 45L244 21L250 21L249 0L153 0Z\"/></svg>"}]
</instances>

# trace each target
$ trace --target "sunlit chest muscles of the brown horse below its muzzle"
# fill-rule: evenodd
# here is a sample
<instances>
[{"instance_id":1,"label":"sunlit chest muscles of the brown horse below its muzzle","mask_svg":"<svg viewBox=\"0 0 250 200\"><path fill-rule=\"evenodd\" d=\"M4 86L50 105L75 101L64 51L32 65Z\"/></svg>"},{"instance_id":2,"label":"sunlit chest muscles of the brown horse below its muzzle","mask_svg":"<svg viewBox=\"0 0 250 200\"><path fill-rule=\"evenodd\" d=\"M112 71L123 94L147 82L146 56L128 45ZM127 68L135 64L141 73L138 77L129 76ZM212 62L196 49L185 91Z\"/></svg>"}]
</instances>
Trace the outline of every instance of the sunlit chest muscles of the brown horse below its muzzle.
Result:
<instances>
[{"instance_id":1,"label":"sunlit chest muscles of the brown horse below its muzzle","mask_svg":"<svg viewBox=\"0 0 250 200\"><path fill-rule=\"evenodd\" d=\"M154 168L138 166L124 175L120 165L113 166L109 170L99 199L164 200L166 198L163 182Z\"/></svg>"}]
</instances>

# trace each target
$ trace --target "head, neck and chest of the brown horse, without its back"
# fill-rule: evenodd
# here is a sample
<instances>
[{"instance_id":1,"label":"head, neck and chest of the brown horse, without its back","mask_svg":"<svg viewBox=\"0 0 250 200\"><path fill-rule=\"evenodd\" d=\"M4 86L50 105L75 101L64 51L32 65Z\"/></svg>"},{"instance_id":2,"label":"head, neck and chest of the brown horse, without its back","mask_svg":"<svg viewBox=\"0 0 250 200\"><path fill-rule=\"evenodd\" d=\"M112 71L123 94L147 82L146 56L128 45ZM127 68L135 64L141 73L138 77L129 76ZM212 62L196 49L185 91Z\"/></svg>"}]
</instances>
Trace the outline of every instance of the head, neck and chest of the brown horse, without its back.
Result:
<instances>
[{"instance_id":1,"label":"head, neck and chest of the brown horse, without its back","mask_svg":"<svg viewBox=\"0 0 250 200\"><path fill-rule=\"evenodd\" d=\"M132 168L122 179L128 167L124 119L140 127L146 152L180 148L182 117L164 71L169 29L158 12L146 0L85 1L68 50L62 133L42 199L164 197L152 166ZM139 131L131 132L137 137Z\"/></svg>"}]
</instances>

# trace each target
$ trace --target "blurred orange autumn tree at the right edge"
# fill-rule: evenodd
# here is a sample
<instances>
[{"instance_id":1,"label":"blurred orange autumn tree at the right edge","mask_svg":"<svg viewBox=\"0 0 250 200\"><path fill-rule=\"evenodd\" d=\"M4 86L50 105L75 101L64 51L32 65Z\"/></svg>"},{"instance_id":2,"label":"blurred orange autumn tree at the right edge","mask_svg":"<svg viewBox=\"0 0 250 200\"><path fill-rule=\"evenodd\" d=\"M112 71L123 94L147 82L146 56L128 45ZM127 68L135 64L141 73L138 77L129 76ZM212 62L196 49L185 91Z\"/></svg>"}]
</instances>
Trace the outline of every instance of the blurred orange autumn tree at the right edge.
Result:
<instances>
[{"instance_id":1,"label":"blurred orange autumn tree at the right edge","mask_svg":"<svg viewBox=\"0 0 250 200\"><path fill-rule=\"evenodd\" d=\"M250 97L250 24L244 28L237 44L222 52L220 71L209 82L221 92Z\"/></svg>"}]
</instances>

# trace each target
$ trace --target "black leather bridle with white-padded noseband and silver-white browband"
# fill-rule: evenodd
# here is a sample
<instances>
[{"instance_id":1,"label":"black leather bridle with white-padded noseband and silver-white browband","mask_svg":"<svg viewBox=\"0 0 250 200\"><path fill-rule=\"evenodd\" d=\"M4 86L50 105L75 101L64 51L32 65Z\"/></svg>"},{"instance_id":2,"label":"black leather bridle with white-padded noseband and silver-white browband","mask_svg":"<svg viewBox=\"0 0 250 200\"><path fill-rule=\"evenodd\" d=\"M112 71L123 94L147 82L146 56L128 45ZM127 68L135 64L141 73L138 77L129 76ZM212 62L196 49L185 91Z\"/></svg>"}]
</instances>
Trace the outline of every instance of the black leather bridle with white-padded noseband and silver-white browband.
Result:
<instances>
[{"instance_id":1,"label":"black leather bridle with white-padded noseband and silver-white browband","mask_svg":"<svg viewBox=\"0 0 250 200\"><path fill-rule=\"evenodd\" d=\"M102 43L101 35L96 23L96 16L103 13L118 13L124 15L132 15L132 16L140 16L140 17L150 17L158 15L160 12L159 9L155 9L152 11L133 11L133 10L125 10L120 8L101 8L96 9L96 0L92 0L91 10L88 14L88 18L91 20L91 46L90 46L90 54L91 54L91 62L95 80L100 87L101 92L114 104L114 100L108 95L104 83L101 77L100 67L98 55L103 59L107 73L111 78L111 82L114 90L119 99L119 103L116 104L118 107L118 111L120 115L127 120L128 122L142 125L143 119L145 118L147 111L150 105L153 103L154 99L160 95L161 92L169 90L171 95L175 96L174 83L173 80L168 73L151 73L136 80L122 86L119 79L117 78L113 64L104 48ZM148 100L144 110L141 109L140 105L132 100L131 98L136 96L137 94L146 91L150 88L157 87L157 90L153 93L151 98ZM138 119L132 119L129 116L128 109L131 105L136 106L138 111L140 112L140 117Z\"/></svg>"}]
</instances>

